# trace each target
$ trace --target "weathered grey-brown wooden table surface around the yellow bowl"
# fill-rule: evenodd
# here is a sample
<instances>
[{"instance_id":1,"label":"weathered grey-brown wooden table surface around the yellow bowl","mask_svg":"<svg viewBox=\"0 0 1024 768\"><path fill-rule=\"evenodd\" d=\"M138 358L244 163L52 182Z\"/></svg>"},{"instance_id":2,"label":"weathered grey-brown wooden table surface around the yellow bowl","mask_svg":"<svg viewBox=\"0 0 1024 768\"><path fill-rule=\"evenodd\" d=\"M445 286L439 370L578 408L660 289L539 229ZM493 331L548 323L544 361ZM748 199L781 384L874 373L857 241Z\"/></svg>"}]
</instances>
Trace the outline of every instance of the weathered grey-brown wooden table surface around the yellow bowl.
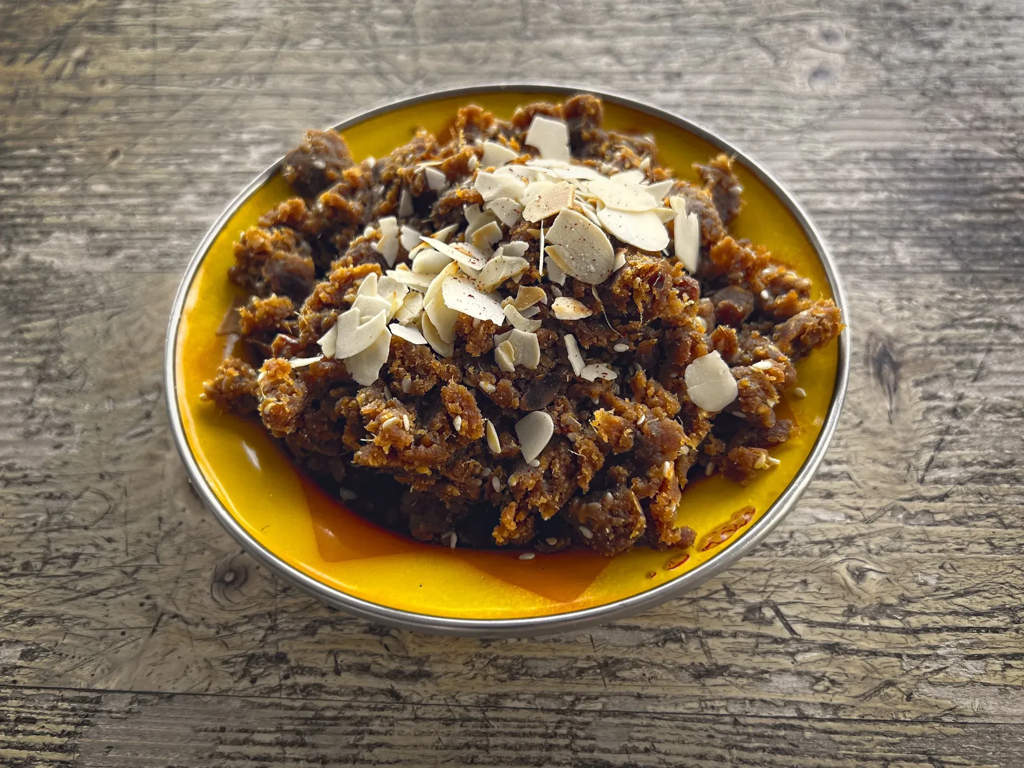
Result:
<instances>
[{"instance_id":1,"label":"weathered grey-brown wooden table surface around the yellow bowl","mask_svg":"<svg viewBox=\"0 0 1024 768\"><path fill-rule=\"evenodd\" d=\"M174 290L309 126L502 79L705 124L810 211L853 371L783 524L593 631L463 640L243 554ZM1019 0L0 0L0 765L1024 765Z\"/></svg>"}]
</instances>

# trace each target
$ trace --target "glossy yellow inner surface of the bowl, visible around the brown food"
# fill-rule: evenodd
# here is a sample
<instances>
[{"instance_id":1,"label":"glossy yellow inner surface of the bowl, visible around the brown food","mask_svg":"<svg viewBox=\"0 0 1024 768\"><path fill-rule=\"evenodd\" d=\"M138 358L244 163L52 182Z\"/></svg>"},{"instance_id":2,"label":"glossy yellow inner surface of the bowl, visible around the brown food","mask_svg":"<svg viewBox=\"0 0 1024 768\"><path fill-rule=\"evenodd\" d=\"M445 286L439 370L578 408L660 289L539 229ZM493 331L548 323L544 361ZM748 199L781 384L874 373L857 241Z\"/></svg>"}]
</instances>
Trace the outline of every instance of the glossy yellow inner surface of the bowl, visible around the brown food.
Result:
<instances>
[{"instance_id":1,"label":"glossy yellow inner surface of the bowl, visible around the brown food","mask_svg":"<svg viewBox=\"0 0 1024 768\"><path fill-rule=\"evenodd\" d=\"M517 104L557 98L554 93L507 91L444 97L397 108L343 133L356 160L382 157L408 141L418 126L441 131L465 103L478 103L507 118ZM605 125L652 133L658 162L675 169L679 178L696 181L691 164L719 151L678 126L614 103L605 103ZM744 205L731 232L766 245L777 260L811 279L813 298L831 297L814 247L783 202L741 165L737 164L737 172ZM781 408L788 408L802 431L772 451L780 465L760 472L746 486L715 475L684 489L679 519L697 532L691 550L638 548L610 559L589 551L566 551L520 560L521 551L449 550L382 528L304 477L260 425L199 400L203 382L230 351L225 350L225 337L215 331L241 295L226 278L232 244L260 215L290 197L284 180L273 177L234 212L207 251L178 327L176 395L188 444L223 506L281 560L331 588L390 608L456 618L523 618L605 605L660 586L721 555L785 489L818 437L833 397L837 344L797 365L807 396L788 395ZM733 516L746 506L756 513L737 527Z\"/></svg>"}]
</instances>

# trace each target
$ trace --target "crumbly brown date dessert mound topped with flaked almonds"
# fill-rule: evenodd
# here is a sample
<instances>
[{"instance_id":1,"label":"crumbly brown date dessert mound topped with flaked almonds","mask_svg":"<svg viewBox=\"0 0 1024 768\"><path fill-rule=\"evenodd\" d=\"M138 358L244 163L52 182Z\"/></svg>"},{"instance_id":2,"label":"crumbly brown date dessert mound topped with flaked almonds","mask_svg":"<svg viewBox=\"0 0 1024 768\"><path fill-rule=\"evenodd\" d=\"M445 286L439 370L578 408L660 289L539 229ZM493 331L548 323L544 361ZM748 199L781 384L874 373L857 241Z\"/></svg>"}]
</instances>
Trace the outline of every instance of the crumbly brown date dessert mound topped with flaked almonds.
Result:
<instances>
[{"instance_id":1,"label":"crumbly brown date dessert mound topped with flaked almonds","mask_svg":"<svg viewBox=\"0 0 1024 768\"><path fill-rule=\"evenodd\" d=\"M690 546L687 477L771 471L794 362L843 323L729 234L728 157L692 183L601 123L590 95L509 121L468 105L360 163L308 131L296 197L234 246L248 300L219 333L248 359L203 399L418 540Z\"/></svg>"}]
</instances>

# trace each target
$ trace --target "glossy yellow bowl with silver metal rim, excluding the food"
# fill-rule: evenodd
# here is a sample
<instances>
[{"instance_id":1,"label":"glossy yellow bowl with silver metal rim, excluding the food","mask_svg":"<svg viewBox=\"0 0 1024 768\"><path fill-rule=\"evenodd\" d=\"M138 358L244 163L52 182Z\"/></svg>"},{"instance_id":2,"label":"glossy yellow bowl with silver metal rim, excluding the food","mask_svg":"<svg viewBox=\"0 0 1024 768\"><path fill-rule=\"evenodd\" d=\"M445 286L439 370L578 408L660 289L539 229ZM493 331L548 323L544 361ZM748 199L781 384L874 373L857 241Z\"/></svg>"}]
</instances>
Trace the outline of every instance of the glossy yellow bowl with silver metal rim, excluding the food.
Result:
<instances>
[{"instance_id":1,"label":"glossy yellow bowl with silver metal rim, excluding the food","mask_svg":"<svg viewBox=\"0 0 1024 768\"><path fill-rule=\"evenodd\" d=\"M518 104L574 91L489 86L433 93L359 115L337 126L356 160L381 157L417 127L439 132L474 102L500 117ZM694 162L736 157L744 206L730 229L766 245L813 281L815 298L846 306L831 260L806 214L766 171L686 120L608 94L605 125L653 134L658 161L693 178ZM788 512L810 481L835 429L849 368L849 332L801 360L805 398L786 398L801 434L776 450L781 462L749 485L721 476L692 482L680 519L697 532L684 553L638 548L614 558L566 551L520 560L517 551L450 550L416 542L349 511L300 473L263 428L201 402L227 350L217 326L241 295L228 283L232 244L274 204L294 197L280 162L255 179L211 227L178 289L168 330L165 376L175 442L191 481L227 530L274 572L338 608L374 621L461 635L530 635L637 612L692 589L734 562ZM741 510L754 508L753 514Z\"/></svg>"}]
</instances>

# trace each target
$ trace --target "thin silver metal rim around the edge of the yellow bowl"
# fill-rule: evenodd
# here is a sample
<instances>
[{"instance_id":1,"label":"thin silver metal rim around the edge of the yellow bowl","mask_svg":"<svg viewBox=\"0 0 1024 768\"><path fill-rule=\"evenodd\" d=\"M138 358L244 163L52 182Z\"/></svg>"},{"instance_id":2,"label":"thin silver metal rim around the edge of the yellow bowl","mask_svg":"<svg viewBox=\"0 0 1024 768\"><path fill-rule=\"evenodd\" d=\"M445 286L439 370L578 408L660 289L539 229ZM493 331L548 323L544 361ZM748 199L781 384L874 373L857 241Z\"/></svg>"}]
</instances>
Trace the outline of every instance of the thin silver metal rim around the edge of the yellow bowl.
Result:
<instances>
[{"instance_id":1,"label":"thin silver metal rim around the edge of the yellow bowl","mask_svg":"<svg viewBox=\"0 0 1024 768\"><path fill-rule=\"evenodd\" d=\"M617 103L637 112L665 120L672 125L693 133L723 152L731 154L752 173L757 175L761 181L764 182L768 188L770 188L772 193L785 204L790 213L792 213L800 223L804 233L807 236L811 245L817 252L818 258L821 260L822 266L825 270L825 275L827 276L829 286L833 290L836 304L842 310L847 322L849 322L846 295L843 291L843 285L840 281L839 272L836 269L831 255L825 247L820 233L811 222L803 207L794 199L788 190L786 190L785 187L783 187L782 184L775 179L774 176L772 176L751 157L740 152L738 148L712 131L696 125L685 118L666 112L665 110L660 110L656 106L651 106L615 93L601 92L592 88L575 88L572 86L554 84L503 83L432 91L397 101L391 101L368 112L359 113L358 115L333 126L333 128L339 131L345 130L346 128L365 120L402 106L410 106L441 98L472 96L476 93L495 91L553 93L561 96L568 96L574 93L592 93L605 101ZM178 286L178 291L174 297L174 304L171 309L167 340L164 348L164 386L167 398L167 412L171 422L171 433L174 437L174 444L177 446L178 453L181 455L181 459L188 471L188 477L193 486L199 493L206 505L213 511L221 524L227 529L227 532L230 534L231 537L250 555L263 563L274 573L282 577L289 584L333 607L340 608L362 618L380 622L382 624L404 630L428 632L432 634L459 635L463 637L523 637L581 630L585 627L591 627L603 622L633 615L641 610L644 610L645 608L652 608L668 600L679 597L683 593L694 589L715 574L729 567L754 549L754 547L760 544L765 537L767 537L779 524L779 522L781 522L782 518L790 513L797 501L803 495L804 490L807 488L807 485L810 483L819 465L821 464L822 459L824 458L825 452L828 449L828 443L831 441L831 436L836 431L836 426L842 412L843 400L846 396L850 375L851 342L849 328L844 330L838 339L839 358L837 360L838 370L836 372L836 386L833 390L833 398L830 404L828 406L828 412L825 416L824 423L821 426L821 432L819 433L810 455L808 455L807 460L804 462L804 465L801 467L796 477L793 478L782 494L775 500L775 503L769 507L768 511L759 520L757 520L738 541L723 550L722 553L716 557L713 557L692 570L687 571L686 573L674 579L671 582L667 582L659 587L647 590L646 592L641 592L637 595L633 595L632 597L615 600L614 602L610 602L605 605L569 611L566 613L554 613L551 615L525 618L450 618L445 616L434 616L426 613L414 613L412 611L398 610L396 608L390 608L367 600L361 600L332 587L328 587L312 577L309 577L294 566L284 562L275 554L273 554L273 552L253 539L253 537L242 527L231 513L227 511L223 504L221 504L220 500L217 499L217 496L213 493L213 489L203 476L199 465L193 457L191 449L188 445L188 440L185 436L184 428L181 423L181 414L178 410L177 400L177 383L175 381L175 347L177 345L177 331L178 326L180 325L181 311L188 295L188 290L191 287L193 280L196 276L196 272L214 239L227 223L231 215L233 215L239 206L242 205L242 203L244 203L250 195L256 191L256 189L278 173L283 160L284 158L279 159L278 162L259 174L233 201L231 201L231 203L224 209L223 213L220 214L217 220L207 231L203 241L200 243L199 248L196 249L196 253L193 255L191 260L188 263L188 267L181 280L181 284Z\"/></svg>"}]
</instances>

